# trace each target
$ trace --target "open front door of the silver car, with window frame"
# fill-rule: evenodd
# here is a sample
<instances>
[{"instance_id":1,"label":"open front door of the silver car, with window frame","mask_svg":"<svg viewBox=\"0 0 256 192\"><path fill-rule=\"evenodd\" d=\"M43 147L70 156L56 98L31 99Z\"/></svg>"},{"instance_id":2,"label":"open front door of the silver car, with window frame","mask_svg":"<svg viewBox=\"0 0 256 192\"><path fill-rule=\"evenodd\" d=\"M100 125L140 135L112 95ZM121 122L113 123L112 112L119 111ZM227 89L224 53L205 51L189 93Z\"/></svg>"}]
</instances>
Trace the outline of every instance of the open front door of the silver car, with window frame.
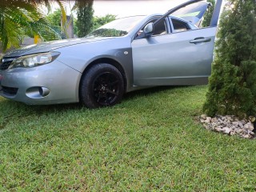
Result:
<instances>
[{"instance_id":1,"label":"open front door of the silver car, with window frame","mask_svg":"<svg viewBox=\"0 0 256 192\"><path fill-rule=\"evenodd\" d=\"M208 4L206 2L203 4L205 10L201 10L200 13L206 12ZM218 0L215 6L217 10L214 10L211 25L207 28L175 30L175 25L182 26L188 23L170 16L179 13L178 11L185 7L185 15L197 17L198 11L194 11L197 5L202 5L202 1L185 2L169 10L153 25L151 24L154 29L154 26L164 21L166 25L170 25L172 29L170 33L152 35L154 30L147 31L150 27L146 26L145 37L134 39L132 42L134 86L201 85L208 82L222 0ZM193 8L190 12L188 6Z\"/></svg>"}]
</instances>

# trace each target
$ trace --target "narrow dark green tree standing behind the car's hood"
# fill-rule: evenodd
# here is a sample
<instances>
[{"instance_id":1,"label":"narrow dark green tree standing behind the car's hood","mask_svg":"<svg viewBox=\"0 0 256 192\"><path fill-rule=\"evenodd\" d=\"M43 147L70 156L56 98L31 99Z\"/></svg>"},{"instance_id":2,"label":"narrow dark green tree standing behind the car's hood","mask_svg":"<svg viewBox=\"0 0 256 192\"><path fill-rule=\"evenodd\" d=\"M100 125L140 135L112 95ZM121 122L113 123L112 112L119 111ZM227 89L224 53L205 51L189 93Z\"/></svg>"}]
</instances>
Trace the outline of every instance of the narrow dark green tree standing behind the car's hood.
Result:
<instances>
[{"instance_id":1,"label":"narrow dark green tree standing behind the car's hood","mask_svg":"<svg viewBox=\"0 0 256 192\"><path fill-rule=\"evenodd\" d=\"M78 21L76 23L78 27L79 38L86 36L86 34L89 34L93 28L93 3L93 0L88 0L83 3L81 2L81 4L78 5Z\"/></svg>"}]
</instances>

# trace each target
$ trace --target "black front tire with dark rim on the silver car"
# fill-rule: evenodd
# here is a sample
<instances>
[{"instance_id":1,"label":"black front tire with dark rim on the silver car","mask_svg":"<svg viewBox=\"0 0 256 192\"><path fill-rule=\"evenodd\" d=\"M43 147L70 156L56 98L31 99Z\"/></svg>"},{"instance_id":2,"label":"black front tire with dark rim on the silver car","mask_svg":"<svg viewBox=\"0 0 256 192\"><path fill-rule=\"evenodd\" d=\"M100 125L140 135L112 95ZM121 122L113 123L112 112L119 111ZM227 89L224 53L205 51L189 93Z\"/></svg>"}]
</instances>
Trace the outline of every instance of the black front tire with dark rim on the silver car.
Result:
<instances>
[{"instance_id":1,"label":"black front tire with dark rim on the silver car","mask_svg":"<svg viewBox=\"0 0 256 192\"><path fill-rule=\"evenodd\" d=\"M114 106L124 94L124 81L120 71L110 64L91 66L83 74L80 88L80 102L90 108Z\"/></svg>"}]
</instances>

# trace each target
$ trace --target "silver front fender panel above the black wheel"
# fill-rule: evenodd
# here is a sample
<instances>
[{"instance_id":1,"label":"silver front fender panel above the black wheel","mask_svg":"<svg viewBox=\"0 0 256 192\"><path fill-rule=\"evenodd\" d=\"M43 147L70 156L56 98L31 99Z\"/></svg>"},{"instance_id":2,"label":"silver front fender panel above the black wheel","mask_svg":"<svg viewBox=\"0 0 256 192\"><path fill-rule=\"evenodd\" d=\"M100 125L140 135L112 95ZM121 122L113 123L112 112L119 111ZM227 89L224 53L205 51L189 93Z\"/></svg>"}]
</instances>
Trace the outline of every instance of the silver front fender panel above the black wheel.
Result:
<instances>
[{"instance_id":1,"label":"silver front fender panel above the black wheel","mask_svg":"<svg viewBox=\"0 0 256 192\"><path fill-rule=\"evenodd\" d=\"M110 40L84 43L76 46L62 47L56 51L62 54L57 58L59 62L83 73L90 63L104 58L118 62L125 72L127 91L133 86L132 51L130 36L112 38ZM107 49L106 49L107 47Z\"/></svg>"}]
</instances>

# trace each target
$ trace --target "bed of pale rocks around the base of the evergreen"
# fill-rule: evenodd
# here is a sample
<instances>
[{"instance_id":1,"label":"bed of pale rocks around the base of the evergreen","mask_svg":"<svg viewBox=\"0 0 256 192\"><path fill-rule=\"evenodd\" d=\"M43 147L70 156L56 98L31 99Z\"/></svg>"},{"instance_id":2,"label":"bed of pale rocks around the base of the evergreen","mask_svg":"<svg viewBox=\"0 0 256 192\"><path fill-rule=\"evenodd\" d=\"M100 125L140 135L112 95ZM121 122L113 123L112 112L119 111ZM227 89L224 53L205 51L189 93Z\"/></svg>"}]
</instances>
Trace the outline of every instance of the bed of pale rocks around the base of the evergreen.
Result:
<instances>
[{"instance_id":1,"label":"bed of pale rocks around the base of the evergreen","mask_svg":"<svg viewBox=\"0 0 256 192\"><path fill-rule=\"evenodd\" d=\"M221 116L218 115L214 118L207 117L206 114L202 114L199 117L200 122L206 128L206 130L214 130L223 134L238 135L242 138L254 138L254 123L250 122L253 119L250 117L247 119L239 120L234 115Z\"/></svg>"}]
</instances>

